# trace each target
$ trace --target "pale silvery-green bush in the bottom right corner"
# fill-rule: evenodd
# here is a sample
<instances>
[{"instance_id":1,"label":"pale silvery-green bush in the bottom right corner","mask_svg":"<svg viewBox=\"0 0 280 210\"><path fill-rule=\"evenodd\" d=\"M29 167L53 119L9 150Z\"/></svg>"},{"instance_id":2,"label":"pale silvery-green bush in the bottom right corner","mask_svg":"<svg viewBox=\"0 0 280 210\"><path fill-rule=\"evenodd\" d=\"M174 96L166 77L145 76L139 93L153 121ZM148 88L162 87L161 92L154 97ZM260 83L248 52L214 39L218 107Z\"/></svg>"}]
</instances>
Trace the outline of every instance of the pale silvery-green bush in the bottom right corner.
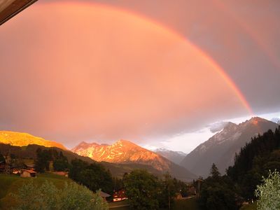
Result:
<instances>
[{"instance_id":1,"label":"pale silvery-green bush in the bottom right corner","mask_svg":"<svg viewBox=\"0 0 280 210\"><path fill-rule=\"evenodd\" d=\"M276 170L270 172L263 183L257 186L255 196L258 197L258 209L280 209L280 174Z\"/></svg>"}]
</instances>

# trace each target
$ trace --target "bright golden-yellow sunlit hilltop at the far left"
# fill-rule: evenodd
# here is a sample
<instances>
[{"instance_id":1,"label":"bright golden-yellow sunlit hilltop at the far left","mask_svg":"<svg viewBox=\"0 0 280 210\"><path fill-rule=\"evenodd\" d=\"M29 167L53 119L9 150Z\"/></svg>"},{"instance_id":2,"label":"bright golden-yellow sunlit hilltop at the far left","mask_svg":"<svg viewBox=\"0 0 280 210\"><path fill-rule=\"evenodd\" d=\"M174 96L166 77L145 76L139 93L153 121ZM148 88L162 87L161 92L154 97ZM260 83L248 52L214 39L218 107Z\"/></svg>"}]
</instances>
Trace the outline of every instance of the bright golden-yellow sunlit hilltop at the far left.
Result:
<instances>
[{"instance_id":1,"label":"bright golden-yellow sunlit hilltop at the far left","mask_svg":"<svg viewBox=\"0 0 280 210\"><path fill-rule=\"evenodd\" d=\"M0 131L0 143L10 144L12 146L27 146L36 144L45 147L57 147L66 150L66 148L55 141L48 141L40 137L34 137L27 133Z\"/></svg>"}]
</instances>

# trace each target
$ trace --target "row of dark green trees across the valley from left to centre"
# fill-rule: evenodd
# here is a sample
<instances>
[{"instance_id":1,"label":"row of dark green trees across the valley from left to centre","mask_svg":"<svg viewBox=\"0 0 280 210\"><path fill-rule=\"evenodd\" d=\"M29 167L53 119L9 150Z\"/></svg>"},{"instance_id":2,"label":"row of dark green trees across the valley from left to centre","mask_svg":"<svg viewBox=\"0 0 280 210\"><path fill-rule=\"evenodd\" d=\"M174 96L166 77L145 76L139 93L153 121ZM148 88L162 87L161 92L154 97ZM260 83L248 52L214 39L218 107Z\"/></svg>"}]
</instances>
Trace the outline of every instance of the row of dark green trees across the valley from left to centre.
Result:
<instances>
[{"instance_id":1,"label":"row of dark green trees across the valley from left to centre","mask_svg":"<svg viewBox=\"0 0 280 210\"><path fill-rule=\"evenodd\" d=\"M168 172L161 178L146 170L135 169L125 173L123 178L113 177L102 164L89 164L80 159L71 160L62 152L53 149L36 151L35 169L37 172L50 170L50 162L55 171L69 172L69 178L87 187L92 192L102 190L113 195L114 190L125 188L130 205L134 209L171 209L178 193L183 197L188 194L188 186L183 181L173 178Z\"/></svg>"}]
</instances>

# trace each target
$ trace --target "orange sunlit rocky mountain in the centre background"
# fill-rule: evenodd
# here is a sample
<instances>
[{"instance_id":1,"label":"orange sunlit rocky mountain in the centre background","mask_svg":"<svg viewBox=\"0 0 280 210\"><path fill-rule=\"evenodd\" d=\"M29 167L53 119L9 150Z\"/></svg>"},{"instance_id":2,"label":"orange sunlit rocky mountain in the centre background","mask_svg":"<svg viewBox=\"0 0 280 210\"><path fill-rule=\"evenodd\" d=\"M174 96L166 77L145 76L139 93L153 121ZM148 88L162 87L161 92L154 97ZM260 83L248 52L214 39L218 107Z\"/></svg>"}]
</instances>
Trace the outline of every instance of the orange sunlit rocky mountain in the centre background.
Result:
<instances>
[{"instance_id":1,"label":"orange sunlit rocky mountain in the centre background","mask_svg":"<svg viewBox=\"0 0 280 210\"><path fill-rule=\"evenodd\" d=\"M87 144L81 142L71 151L78 155L86 156L98 162L113 162L120 164L139 164L151 166L159 172L169 171L172 176L178 179L191 180L196 176L184 167L176 165L174 162L167 160L152 151L137 146L131 141L119 140L115 144Z\"/></svg>"}]
</instances>

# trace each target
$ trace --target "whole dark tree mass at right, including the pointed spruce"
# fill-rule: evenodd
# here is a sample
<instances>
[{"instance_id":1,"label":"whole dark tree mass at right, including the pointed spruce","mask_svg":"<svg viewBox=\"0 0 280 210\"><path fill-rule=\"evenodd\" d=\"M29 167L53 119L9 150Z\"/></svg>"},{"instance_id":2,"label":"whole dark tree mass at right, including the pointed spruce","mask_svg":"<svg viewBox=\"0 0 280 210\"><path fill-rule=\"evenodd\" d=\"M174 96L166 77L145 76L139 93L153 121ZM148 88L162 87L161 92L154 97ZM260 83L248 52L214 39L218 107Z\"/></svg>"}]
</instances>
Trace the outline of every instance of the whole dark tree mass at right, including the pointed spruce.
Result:
<instances>
[{"instance_id":1,"label":"whole dark tree mass at right, including the pointed spruce","mask_svg":"<svg viewBox=\"0 0 280 210\"><path fill-rule=\"evenodd\" d=\"M200 207L239 209L242 202L259 197L257 188L274 170L280 172L280 127L252 138L235 155L235 164L224 176L213 164L209 177L201 181Z\"/></svg>"}]
</instances>

